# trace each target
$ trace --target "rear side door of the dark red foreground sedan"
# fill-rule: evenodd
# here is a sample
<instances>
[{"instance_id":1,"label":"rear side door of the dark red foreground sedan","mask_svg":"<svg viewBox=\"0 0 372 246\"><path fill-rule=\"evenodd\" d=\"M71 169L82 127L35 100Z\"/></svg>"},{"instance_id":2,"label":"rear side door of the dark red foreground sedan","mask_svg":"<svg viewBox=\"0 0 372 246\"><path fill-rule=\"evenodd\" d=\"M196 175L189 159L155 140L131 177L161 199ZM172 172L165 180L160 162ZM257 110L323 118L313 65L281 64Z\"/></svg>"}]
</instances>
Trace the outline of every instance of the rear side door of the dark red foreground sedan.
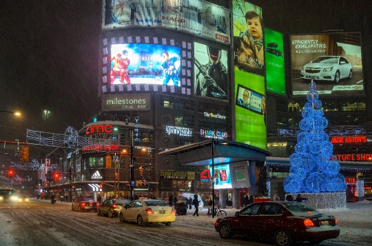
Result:
<instances>
[{"instance_id":1,"label":"rear side door of the dark red foreground sedan","mask_svg":"<svg viewBox=\"0 0 372 246\"><path fill-rule=\"evenodd\" d=\"M282 227L283 210L275 204L265 204L260 211L262 236L272 236L278 227Z\"/></svg>"}]
</instances>

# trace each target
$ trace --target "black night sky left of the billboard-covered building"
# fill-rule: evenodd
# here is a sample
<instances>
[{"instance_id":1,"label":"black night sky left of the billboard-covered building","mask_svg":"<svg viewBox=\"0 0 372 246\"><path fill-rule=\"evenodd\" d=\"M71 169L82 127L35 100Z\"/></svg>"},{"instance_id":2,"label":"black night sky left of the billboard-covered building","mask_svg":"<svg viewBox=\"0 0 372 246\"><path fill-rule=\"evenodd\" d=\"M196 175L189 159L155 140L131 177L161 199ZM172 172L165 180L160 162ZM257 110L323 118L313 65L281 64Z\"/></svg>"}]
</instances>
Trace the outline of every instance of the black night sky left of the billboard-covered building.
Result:
<instances>
[{"instance_id":1,"label":"black night sky left of the billboard-covered building","mask_svg":"<svg viewBox=\"0 0 372 246\"><path fill-rule=\"evenodd\" d=\"M101 110L97 90L101 3L1 3L0 110L22 114L16 119L0 112L1 140L26 141L26 129L80 130ZM43 122L45 109L50 114Z\"/></svg>"}]
</instances>

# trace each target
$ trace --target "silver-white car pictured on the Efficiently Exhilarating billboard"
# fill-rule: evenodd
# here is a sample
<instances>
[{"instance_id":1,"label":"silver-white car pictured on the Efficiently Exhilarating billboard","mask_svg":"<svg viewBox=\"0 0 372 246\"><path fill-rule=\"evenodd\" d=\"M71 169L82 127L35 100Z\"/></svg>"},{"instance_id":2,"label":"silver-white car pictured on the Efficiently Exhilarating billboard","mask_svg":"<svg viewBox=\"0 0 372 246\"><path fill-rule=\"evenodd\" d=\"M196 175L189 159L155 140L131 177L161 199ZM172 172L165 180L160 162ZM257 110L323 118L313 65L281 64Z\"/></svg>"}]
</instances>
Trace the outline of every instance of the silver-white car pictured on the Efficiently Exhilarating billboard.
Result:
<instances>
[{"instance_id":1,"label":"silver-white car pictured on the Efficiently Exhilarating billboard","mask_svg":"<svg viewBox=\"0 0 372 246\"><path fill-rule=\"evenodd\" d=\"M341 56L322 56L307 63L301 69L301 79L309 81L334 81L338 83L340 79L351 79L353 67L346 58Z\"/></svg>"}]
</instances>

